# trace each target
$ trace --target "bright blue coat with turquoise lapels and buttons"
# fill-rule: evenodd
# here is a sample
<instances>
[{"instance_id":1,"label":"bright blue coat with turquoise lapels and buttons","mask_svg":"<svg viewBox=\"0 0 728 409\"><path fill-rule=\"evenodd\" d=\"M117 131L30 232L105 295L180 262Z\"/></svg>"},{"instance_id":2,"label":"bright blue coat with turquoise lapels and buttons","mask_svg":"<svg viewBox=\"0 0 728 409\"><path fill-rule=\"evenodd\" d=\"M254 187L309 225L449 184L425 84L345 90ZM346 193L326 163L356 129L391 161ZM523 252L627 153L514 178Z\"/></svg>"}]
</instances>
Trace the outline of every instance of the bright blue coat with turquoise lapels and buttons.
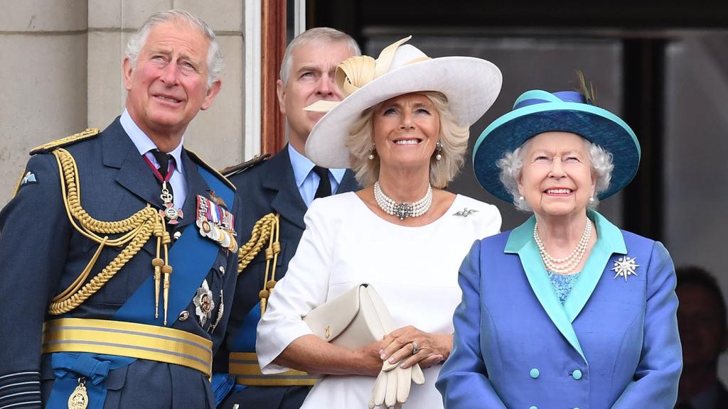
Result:
<instances>
[{"instance_id":1,"label":"bright blue coat with turquoise lapels and buttons","mask_svg":"<svg viewBox=\"0 0 728 409\"><path fill-rule=\"evenodd\" d=\"M590 213L599 238L563 306L535 245L535 218L475 242L460 269L447 409L668 409L682 360L673 263L660 242ZM636 275L614 262L636 258Z\"/></svg>"}]
</instances>

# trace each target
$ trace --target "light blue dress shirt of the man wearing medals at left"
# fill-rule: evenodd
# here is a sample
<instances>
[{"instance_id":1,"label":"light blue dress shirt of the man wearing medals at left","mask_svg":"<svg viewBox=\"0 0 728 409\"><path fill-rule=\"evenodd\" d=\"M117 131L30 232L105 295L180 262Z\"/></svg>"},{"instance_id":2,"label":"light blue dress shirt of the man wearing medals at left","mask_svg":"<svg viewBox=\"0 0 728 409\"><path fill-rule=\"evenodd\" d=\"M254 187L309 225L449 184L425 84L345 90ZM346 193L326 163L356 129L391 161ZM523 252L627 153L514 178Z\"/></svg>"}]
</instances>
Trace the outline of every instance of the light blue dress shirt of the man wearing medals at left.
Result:
<instances>
[{"instance_id":1,"label":"light blue dress shirt of the man wearing medals at left","mask_svg":"<svg viewBox=\"0 0 728 409\"><path fill-rule=\"evenodd\" d=\"M124 114L122 114L119 122L122 124L124 131L127 132L127 135L129 135L132 143L134 143L134 146L136 146L139 154L146 156L147 159L149 159L149 161L154 164L154 166L159 168L159 163L157 162L157 159L155 159L154 155L151 154L151 151L157 149L157 145L154 145L154 142L149 139L149 136L147 136L137 126L137 124L134 123L134 120L129 115L129 112L126 109L124 109ZM184 169L182 164L183 143L184 136L182 137L182 140L180 140L180 144L175 148L175 150L170 152L170 155L172 155L172 157L175 159L175 171L170 177L170 184L172 185L172 191L174 192L173 202L175 203L175 208L177 209L182 208L182 204L184 204L184 201L187 198L187 183L185 183ZM151 169L149 170L149 172L151 172ZM161 194L161 188L159 192Z\"/></svg>"}]
</instances>

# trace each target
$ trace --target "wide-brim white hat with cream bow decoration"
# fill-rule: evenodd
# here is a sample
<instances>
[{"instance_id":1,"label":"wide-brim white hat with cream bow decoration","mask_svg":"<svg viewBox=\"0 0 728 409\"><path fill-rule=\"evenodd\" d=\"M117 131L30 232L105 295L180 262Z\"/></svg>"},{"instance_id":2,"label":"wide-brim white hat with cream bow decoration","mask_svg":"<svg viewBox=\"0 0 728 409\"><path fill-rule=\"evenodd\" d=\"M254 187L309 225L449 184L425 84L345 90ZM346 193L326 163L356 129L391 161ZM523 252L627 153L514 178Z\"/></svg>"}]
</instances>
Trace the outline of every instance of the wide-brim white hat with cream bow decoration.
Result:
<instances>
[{"instance_id":1,"label":"wide-brim white hat with cream bow decoration","mask_svg":"<svg viewBox=\"0 0 728 409\"><path fill-rule=\"evenodd\" d=\"M496 65L475 57L430 58L404 44L407 37L372 57L349 57L336 69L341 102L319 101L309 111L328 111L306 140L306 156L329 168L349 167L344 145L349 128L362 112L382 101L410 92L437 91L448 98L455 122L470 127L493 105L503 77Z\"/></svg>"}]
</instances>

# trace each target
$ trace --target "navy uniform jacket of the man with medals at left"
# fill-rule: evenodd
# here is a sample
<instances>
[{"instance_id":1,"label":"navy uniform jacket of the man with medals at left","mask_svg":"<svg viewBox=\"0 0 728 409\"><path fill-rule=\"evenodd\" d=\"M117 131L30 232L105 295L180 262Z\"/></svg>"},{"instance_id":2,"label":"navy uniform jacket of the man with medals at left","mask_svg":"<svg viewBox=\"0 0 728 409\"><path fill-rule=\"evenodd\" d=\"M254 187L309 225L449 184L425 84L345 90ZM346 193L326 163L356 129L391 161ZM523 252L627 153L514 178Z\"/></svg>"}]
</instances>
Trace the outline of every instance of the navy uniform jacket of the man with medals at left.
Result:
<instances>
[{"instance_id":1,"label":"navy uniform jacket of the man with medals at left","mask_svg":"<svg viewBox=\"0 0 728 409\"><path fill-rule=\"evenodd\" d=\"M159 184L118 118L100 135L65 148L76 160L82 206L93 218L119 221L147 204L163 208ZM210 186L198 170L198 165L205 165L197 156L183 151L182 160L188 193L183 204L184 217L170 230L170 235L180 231L182 237L186 237L186 234L199 234L194 223L196 197L209 198ZM48 305L52 297L79 277L98 247L69 223L58 169L52 154L32 156L25 171L33 174L33 183L23 184L0 213L0 407L39 401L41 389L42 400L47 402L55 375L50 356L41 357L41 328L45 320L58 318L47 314ZM223 180L218 181L223 183ZM234 197L232 187L229 189ZM229 210L237 211L237 199L227 204ZM174 250L174 243L173 239L170 250ZM207 280L215 302L212 311L215 319L220 311L220 294L223 294L224 302L232 299L237 254L216 244L213 248L216 253L213 262L204 271L199 271L199 282L190 285L197 289L202 279ZM105 247L89 279L121 250ZM190 253L194 254L195 249L192 250ZM155 256L156 239L152 237L105 286L62 317L113 319L122 304L151 277L151 259ZM176 271L178 266L173 265L173 268ZM224 271L230 274L224 274ZM170 280L172 296L182 284L181 276L175 282L174 274ZM190 295L188 299L182 299L181 310L169 311L170 322L173 322L169 326L213 341L214 349L225 333L229 306L223 307L221 322L210 330L208 325L200 325L192 298ZM159 311L161 315L162 306ZM183 311L186 311L187 319L178 319ZM154 318L151 309L148 314L146 311L137 313ZM180 365L138 359L111 370L104 384L108 388L105 408L214 408L207 376Z\"/></svg>"}]
</instances>

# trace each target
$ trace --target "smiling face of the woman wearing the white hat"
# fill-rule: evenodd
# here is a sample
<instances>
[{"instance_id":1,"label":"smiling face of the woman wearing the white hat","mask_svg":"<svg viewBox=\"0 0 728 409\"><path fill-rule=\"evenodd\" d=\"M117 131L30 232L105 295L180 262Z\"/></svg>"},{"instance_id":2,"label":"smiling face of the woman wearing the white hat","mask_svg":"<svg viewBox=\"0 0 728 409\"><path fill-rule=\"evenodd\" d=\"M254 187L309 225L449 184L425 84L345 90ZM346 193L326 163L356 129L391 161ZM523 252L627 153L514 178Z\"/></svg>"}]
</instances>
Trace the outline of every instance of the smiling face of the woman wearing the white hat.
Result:
<instances>
[{"instance_id":1,"label":"smiling face of the woman wearing the white hat","mask_svg":"<svg viewBox=\"0 0 728 409\"><path fill-rule=\"evenodd\" d=\"M440 138L440 114L425 95L400 95L374 110L373 135L380 172L384 167L424 167L429 173Z\"/></svg>"}]
</instances>

